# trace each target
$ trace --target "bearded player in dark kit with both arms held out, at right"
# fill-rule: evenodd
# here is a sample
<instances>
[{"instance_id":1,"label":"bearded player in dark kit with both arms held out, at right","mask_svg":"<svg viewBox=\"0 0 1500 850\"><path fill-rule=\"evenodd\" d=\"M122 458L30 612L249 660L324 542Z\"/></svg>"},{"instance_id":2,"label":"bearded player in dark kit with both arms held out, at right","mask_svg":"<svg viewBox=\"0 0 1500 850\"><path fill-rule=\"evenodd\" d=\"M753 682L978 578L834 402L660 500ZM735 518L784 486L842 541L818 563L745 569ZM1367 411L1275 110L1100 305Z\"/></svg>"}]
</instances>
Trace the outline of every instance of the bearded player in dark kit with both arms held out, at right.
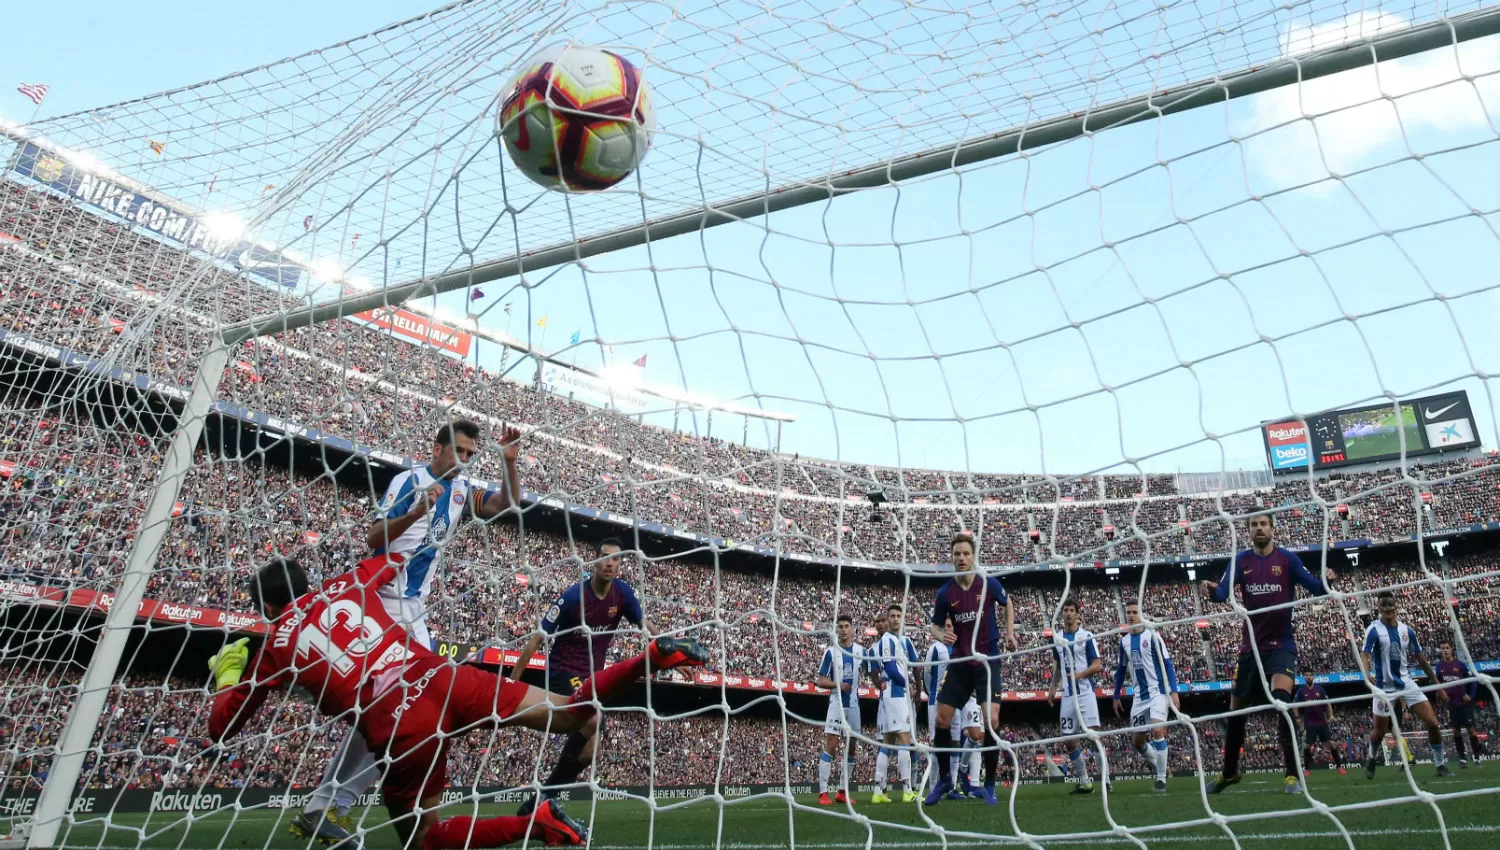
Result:
<instances>
[{"instance_id":1,"label":"bearded player in dark kit with both arms held out, at right","mask_svg":"<svg viewBox=\"0 0 1500 850\"><path fill-rule=\"evenodd\" d=\"M1239 666L1234 670L1234 690L1228 697L1230 711L1266 705L1268 699L1292 702L1292 685L1296 682L1298 642L1292 636L1292 600L1300 585L1316 597L1328 595L1328 588L1302 565L1302 559L1276 546L1275 525L1270 514L1254 514L1246 520L1251 549L1239 552L1224 568L1218 582L1203 582L1203 591L1215 601L1224 603L1238 586L1240 604L1250 612L1250 622L1239 645ZM1328 570L1329 580L1334 571ZM1270 610L1264 610L1270 609ZM1266 675L1262 678L1260 672ZM1269 679L1270 693L1266 693ZM1281 714L1281 712L1278 712ZM1245 715L1236 714L1226 721L1224 771L1209 789L1210 795L1240 781L1239 751L1245 747ZM1286 769L1284 787L1288 795L1302 793L1302 775L1298 772L1296 736L1282 714L1276 724L1281 742L1281 762Z\"/></svg>"}]
</instances>

